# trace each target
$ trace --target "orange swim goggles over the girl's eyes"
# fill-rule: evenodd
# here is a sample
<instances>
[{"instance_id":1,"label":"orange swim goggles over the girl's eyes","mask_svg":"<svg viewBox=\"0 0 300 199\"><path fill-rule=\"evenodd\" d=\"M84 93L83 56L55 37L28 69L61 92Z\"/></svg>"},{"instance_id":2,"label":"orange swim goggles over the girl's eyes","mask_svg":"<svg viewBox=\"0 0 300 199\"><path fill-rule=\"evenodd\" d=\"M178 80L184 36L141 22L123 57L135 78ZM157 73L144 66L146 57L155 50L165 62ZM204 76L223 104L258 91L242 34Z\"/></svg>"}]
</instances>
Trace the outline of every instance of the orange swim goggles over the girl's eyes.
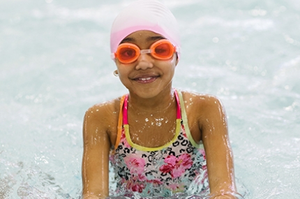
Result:
<instances>
[{"instance_id":1,"label":"orange swim goggles over the girl's eyes","mask_svg":"<svg viewBox=\"0 0 300 199\"><path fill-rule=\"evenodd\" d=\"M133 43L121 43L117 52L112 53L112 59L118 59L122 64L130 64L140 57L140 54L150 53L152 57L160 60L170 59L177 47L169 40L161 39L153 43L150 49L140 50L140 47Z\"/></svg>"}]
</instances>

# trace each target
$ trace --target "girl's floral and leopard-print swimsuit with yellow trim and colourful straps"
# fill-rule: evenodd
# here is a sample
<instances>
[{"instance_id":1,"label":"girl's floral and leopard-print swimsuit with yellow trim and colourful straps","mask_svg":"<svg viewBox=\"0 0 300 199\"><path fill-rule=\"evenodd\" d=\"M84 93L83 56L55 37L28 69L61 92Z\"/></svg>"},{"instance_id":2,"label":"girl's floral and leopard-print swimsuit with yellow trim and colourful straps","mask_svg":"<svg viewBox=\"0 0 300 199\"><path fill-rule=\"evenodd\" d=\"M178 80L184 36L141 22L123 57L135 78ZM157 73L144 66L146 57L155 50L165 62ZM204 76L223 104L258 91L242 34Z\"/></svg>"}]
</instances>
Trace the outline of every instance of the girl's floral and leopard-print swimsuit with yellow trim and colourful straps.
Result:
<instances>
[{"instance_id":1,"label":"girl's floral and leopard-print swimsuit with yellow trim and colourful straps","mask_svg":"<svg viewBox=\"0 0 300 199\"><path fill-rule=\"evenodd\" d=\"M128 95L120 105L118 135L110 154L117 181L116 193L139 192L140 196L172 196L174 193L202 193L209 190L207 163L202 142L190 135L180 91L177 100L177 126L174 138L167 144L142 147L130 139L127 118Z\"/></svg>"}]
</instances>

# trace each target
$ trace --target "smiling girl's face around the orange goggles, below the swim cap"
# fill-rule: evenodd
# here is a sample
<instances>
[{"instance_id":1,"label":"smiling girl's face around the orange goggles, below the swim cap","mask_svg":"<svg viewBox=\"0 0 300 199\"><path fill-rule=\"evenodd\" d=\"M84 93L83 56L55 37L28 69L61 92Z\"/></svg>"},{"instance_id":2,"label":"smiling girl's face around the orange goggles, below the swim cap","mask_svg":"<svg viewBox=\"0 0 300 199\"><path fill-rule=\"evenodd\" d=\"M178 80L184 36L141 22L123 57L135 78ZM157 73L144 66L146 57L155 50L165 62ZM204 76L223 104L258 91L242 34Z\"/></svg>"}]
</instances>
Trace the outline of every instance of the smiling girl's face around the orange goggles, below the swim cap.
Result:
<instances>
[{"instance_id":1,"label":"smiling girl's face around the orange goggles, below the swim cap","mask_svg":"<svg viewBox=\"0 0 300 199\"><path fill-rule=\"evenodd\" d=\"M124 38L121 43L133 43L140 47L140 50L144 50L163 38L152 31L136 31ZM142 98L152 98L164 91L170 94L177 63L175 53L167 60L155 59L151 54L140 54L140 57L130 64L122 64L116 59L121 82L130 94Z\"/></svg>"}]
</instances>

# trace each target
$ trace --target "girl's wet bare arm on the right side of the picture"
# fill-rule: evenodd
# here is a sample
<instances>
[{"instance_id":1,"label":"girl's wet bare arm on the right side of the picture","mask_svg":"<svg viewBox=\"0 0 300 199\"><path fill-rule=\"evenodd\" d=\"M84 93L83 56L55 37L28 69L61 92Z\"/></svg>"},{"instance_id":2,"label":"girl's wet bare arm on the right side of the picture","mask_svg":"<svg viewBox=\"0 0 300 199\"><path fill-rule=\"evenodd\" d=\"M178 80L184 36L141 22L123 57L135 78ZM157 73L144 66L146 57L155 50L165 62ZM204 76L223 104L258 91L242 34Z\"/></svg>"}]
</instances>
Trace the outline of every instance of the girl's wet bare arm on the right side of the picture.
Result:
<instances>
[{"instance_id":1,"label":"girl's wet bare arm on the right side of the picture","mask_svg":"<svg viewBox=\"0 0 300 199\"><path fill-rule=\"evenodd\" d=\"M207 156L207 170L212 198L236 198L234 163L227 132L225 110L213 96L206 98L200 121L202 141ZM223 195L225 194L225 195Z\"/></svg>"}]
</instances>

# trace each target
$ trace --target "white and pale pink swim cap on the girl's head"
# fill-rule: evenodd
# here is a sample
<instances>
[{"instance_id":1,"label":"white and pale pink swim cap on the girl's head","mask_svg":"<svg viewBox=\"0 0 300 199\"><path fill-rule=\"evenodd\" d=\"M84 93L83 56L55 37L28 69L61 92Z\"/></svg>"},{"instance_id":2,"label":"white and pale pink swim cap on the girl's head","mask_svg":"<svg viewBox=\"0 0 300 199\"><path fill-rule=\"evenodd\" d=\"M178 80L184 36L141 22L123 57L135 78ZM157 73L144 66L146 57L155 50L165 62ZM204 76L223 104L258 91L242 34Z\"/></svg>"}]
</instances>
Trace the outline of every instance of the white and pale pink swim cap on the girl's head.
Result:
<instances>
[{"instance_id":1,"label":"white and pale pink swim cap on the girl's head","mask_svg":"<svg viewBox=\"0 0 300 199\"><path fill-rule=\"evenodd\" d=\"M177 20L171 11L159 1L140 0L123 9L114 20L110 31L110 51L116 52L123 38L141 30L160 34L177 49L180 47ZM179 57L179 52L177 54Z\"/></svg>"}]
</instances>

